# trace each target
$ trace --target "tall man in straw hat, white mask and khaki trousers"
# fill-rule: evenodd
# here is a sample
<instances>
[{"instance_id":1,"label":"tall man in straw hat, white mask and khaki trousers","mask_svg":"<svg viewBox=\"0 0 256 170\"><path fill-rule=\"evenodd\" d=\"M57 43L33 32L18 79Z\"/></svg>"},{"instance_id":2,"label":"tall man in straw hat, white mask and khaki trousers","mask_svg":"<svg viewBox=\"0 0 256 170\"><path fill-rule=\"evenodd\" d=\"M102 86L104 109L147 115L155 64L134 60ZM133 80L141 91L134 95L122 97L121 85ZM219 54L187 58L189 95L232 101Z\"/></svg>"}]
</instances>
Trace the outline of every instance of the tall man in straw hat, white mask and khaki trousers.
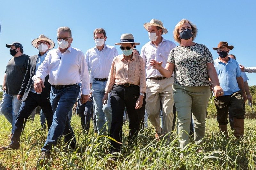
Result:
<instances>
[{"instance_id":1,"label":"tall man in straw hat, white mask and khaki trousers","mask_svg":"<svg viewBox=\"0 0 256 170\"><path fill-rule=\"evenodd\" d=\"M142 49L140 56L146 63L146 111L148 119L156 129L155 137L164 135L172 131L173 124L173 91L174 83L173 75L171 77L163 77L160 72L150 66L151 59L162 61L165 67L168 56L172 48L176 47L175 43L165 40L162 34L167 33L167 29L163 27L163 23L159 20L152 19L149 23L144 24L144 28L148 31L150 41L146 43ZM160 101L162 103L163 129L160 127ZM168 135L169 137L169 135ZM167 138L169 140L169 138Z\"/></svg>"}]
</instances>

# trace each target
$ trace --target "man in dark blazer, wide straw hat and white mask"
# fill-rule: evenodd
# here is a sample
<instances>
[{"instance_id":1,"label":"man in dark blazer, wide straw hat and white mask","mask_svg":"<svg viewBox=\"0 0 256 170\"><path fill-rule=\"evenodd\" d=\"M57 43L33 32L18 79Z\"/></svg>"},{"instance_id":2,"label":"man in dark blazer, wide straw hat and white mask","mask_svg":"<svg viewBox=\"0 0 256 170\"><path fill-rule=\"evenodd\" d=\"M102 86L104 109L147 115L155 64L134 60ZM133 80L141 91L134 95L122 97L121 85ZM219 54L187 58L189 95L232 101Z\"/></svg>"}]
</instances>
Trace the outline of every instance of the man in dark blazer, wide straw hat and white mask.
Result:
<instances>
[{"instance_id":1,"label":"man in dark blazer, wide straw hat and white mask","mask_svg":"<svg viewBox=\"0 0 256 170\"><path fill-rule=\"evenodd\" d=\"M32 45L39 50L39 54L29 57L28 68L20 92L17 95L17 99L22 101L22 103L14 124L14 133L11 138L11 144L6 147L0 147L0 150L2 151L7 149L19 149L22 130L25 127L28 117L37 106L40 106L44 112L48 130L52 124L53 113L49 100L51 89L51 85L48 82L49 76L46 76L45 78L45 88L42 89L42 92L38 93L34 89L32 77L35 75L39 65L44 61L49 49L54 47L54 42L46 36L40 35L39 38L32 41Z\"/></svg>"}]
</instances>

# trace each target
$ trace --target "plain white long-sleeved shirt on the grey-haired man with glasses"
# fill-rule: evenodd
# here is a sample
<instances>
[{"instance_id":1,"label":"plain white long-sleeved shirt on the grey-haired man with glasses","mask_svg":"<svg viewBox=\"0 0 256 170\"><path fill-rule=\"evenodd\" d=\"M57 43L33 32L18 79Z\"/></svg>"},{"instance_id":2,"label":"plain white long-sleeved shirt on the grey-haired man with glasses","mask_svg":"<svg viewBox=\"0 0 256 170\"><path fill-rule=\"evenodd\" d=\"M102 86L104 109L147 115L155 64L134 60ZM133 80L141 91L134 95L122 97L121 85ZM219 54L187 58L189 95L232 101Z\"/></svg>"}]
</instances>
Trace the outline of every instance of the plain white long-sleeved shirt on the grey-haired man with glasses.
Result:
<instances>
[{"instance_id":1,"label":"plain white long-sleeved shirt on the grey-haired man with glasses","mask_svg":"<svg viewBox=\"0 0 256 170\"><path fill-rule=\"evenodd\" d=\"M59 48L49 51L32 79L35 81L36 78L41 78L44 81L48 74L51 85L73 85L82 80L82 94L89 94L87 63L83 52L77 48L70 46L64 53Z\"/></svg>"}]
</instances>

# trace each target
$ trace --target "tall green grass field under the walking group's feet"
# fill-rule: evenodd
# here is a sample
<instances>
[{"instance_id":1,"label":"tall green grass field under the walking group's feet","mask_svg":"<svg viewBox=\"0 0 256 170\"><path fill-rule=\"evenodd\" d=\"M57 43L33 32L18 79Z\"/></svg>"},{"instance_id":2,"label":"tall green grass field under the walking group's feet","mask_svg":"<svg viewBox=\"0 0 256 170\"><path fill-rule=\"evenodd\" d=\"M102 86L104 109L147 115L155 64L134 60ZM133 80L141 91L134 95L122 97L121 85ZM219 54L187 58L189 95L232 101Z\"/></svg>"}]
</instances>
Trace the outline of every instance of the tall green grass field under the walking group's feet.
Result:
<instances>
[{"instance_id":1,"label":"tall green grass field under the walking group's feet","mask_svg":"<svg viewBox=\"0 0 256 170\"><path fill-rule=\"evenodd\" d=\"M116 169L256 169L256 120L245 120L245 135L242 141L234 137L226 140L218 132L215 119L206 122L206 135L203 152L196 153L198 146L193 140L187 154L180 158L182 152L177 147L177 137L172 135L172 142L156 142L150 125L136 138L137 145L127 145L128 123L124 124L122 155ZM0 145L8 145L10 123L0 116ZM63 140L54 148L51 162L42 169L112 169L107 164L109 139L94 135L93 130L85 134L80 129L78 115L73 115L71 125L76 134L78 149L76 152L63 152ZM91 122L92 127L92 122ZM47 132L40 130L39 115L34 122L28 121L21 137L19 150L0 152L0 169L40 169L37 159L44 144ZM91 128L93 129L93 128ZM230 136L232 136L230 131Z\"/></svg>"}]
</instances>

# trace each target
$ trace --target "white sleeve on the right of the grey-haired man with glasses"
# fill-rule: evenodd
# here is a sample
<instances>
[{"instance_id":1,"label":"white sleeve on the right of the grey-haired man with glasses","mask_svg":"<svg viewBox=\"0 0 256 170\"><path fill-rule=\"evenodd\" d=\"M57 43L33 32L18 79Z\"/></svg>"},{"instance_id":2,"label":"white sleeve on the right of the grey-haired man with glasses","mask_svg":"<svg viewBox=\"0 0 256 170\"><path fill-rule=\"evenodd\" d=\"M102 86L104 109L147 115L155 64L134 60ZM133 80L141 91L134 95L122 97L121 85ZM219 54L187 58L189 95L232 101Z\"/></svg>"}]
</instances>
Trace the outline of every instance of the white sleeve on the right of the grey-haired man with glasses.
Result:
<instances>
[{"instance_id":1,"label":"white sleeve on the right of the grey-haired man with glasses","mask_svg":"<svg viewBox=\"0 0 256 170\"><path fill-rule=\"evenodd\" d=\"M80 73L81 73L81 91L83 95L89 95L90 94L90 78L89 78L89 71L88 66L85 61L85 56L81 52L80 55Z\"/></svg>"}]
</instances>

